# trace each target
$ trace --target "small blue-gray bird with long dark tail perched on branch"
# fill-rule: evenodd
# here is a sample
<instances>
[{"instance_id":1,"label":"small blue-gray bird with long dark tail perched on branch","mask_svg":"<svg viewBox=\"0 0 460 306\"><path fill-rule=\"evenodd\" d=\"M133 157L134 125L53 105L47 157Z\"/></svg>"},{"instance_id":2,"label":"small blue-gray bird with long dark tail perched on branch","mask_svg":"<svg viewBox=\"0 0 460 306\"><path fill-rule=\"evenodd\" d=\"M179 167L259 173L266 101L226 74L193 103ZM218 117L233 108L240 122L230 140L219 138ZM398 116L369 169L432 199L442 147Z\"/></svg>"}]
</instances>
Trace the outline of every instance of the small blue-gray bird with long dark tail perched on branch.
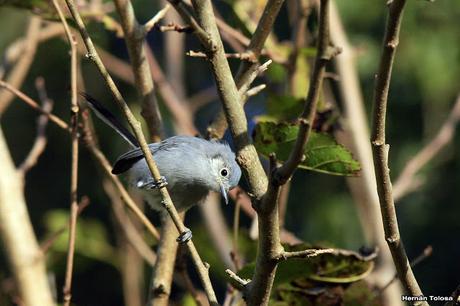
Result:
<instances>
[{"instance_id":1,"label":"small blue-gray bird with long dark tail perched on branch","mask_svg":"<svg viewBox=\"0 0 460 306\"><path fill-rule=\"evenodd\" d=\"M102 104L88 94L81 95L96 115L133 147L117 159L112 173L127 172L129 183L141 190L150 206L163 210L157 187L164 182L153 180L137 139ZM228 203L228 191L237 186L241 178L241 169L228 144L197 137L173 136L159 143L151 143L149 148L178 211L200 204L211 190L220 192L225 203Z\"/></svg>"}]
</instances>

